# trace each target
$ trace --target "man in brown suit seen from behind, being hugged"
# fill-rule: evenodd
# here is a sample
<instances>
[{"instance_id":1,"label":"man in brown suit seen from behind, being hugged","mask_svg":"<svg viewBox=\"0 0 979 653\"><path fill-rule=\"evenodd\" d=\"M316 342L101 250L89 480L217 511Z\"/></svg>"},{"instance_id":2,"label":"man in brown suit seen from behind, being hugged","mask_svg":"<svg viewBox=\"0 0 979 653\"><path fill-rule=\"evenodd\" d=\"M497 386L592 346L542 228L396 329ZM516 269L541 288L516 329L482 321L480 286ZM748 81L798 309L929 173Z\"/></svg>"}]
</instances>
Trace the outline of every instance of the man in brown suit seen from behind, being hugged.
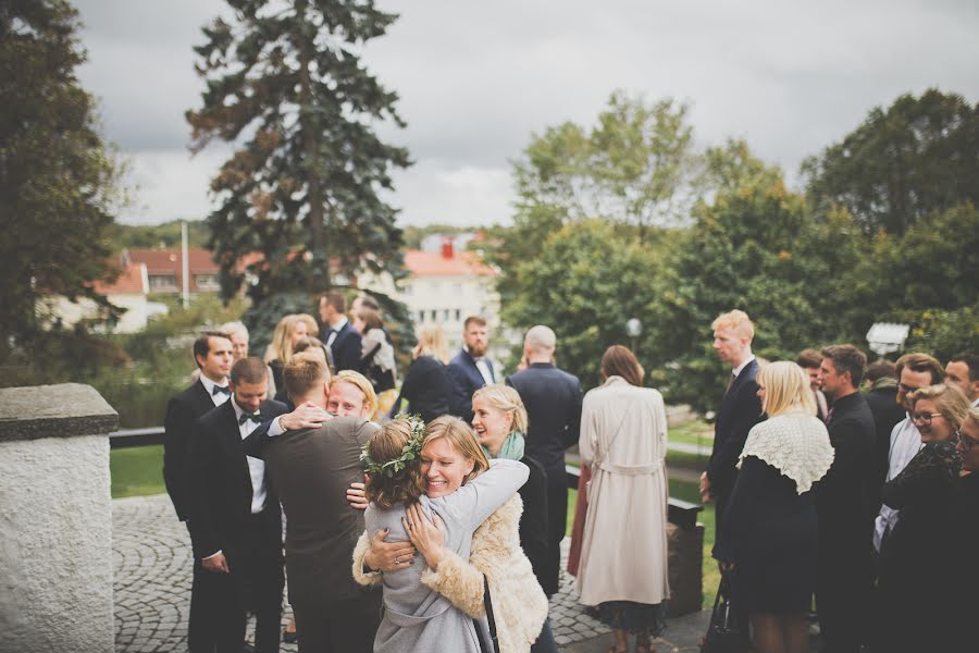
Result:
<instances>
[{"instance_id":1,"label":"man in brown suit seen from behind, being hugged","mask_svg":"<svg viewBox=\"0 0 979 653\"><path fill-rule=\"evenodd\" d=\"M326 407L330 372L319 359L295 356L283 372L296 406ZM261 455L286 514L286 572L300 653L373 650L381 592L354 582L350 560L363 512L346 491L361 481L360 449L377 430L359 417L261 440Z\"/></svg>"}]
</instances>

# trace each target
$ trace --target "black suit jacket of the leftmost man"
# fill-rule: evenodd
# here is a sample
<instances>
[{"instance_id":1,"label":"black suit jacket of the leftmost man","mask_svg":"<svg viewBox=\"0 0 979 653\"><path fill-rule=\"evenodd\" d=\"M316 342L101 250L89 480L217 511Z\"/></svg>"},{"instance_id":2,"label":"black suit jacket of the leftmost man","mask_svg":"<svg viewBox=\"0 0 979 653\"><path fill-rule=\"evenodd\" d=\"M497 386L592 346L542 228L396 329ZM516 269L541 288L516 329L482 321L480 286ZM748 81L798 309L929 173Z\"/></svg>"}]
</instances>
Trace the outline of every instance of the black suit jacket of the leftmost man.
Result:
<instances>
[{"instance_id":1,"label":"black suit jacket of the leftmost man","mask_svg":"<svg viewBox=\"0 0 979 653\"><path fill-rule=\"evenodd\" d=\"M187 506L188 468L187 451L190 429L198 417L214 409L214 401L203 383L196 381L190 387L170 399L163 420L163 481L166 493L173 502L177 518L185 521L189 517Z\"/></svg>"}]
</instances>

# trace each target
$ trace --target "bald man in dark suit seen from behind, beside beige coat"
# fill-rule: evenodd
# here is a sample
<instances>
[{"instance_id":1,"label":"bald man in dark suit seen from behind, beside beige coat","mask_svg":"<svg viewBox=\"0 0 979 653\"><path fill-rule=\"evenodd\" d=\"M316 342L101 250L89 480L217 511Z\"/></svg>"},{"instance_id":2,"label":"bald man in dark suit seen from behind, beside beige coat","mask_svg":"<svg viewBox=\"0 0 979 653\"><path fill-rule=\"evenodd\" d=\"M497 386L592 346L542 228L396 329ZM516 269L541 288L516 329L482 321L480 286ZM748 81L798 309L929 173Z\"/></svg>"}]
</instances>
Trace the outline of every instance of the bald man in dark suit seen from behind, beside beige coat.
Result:
<instances>
[{"instance_id":1,"label":"bald man in dark suit seen from behind, beside beige coat","mask_svg":"<svg viewBox=\"0 0 979 653\"><path fill-rule=\"evenodd\" d=\"M555 367L557 337L537 325L523 338L526 369L507 379L526 408L526 455L537 460L547 478L547 560L541 586L548 596L558 590L561 540L568 520L568 477L565 449L578 443L581 428L581 382Z\"/></svg>"}]
</instances>

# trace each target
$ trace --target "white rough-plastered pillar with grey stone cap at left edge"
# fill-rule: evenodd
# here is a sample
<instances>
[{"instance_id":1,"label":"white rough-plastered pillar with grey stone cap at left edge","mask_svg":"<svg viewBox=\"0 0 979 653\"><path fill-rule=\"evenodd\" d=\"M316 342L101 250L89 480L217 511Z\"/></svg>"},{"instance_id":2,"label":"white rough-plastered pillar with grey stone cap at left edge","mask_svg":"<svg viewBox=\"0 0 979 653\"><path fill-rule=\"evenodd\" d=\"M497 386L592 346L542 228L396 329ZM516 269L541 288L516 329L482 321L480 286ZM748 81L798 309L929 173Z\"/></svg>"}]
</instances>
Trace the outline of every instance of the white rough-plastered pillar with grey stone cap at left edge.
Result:
<instances>
[{"instance_id":1,"label":"white rough-plastered pillar with grey stone cap at left edge","mask_svg":"<svg viewBox=\"0 0 979 653\"><path fill-rule=\"evenodd\" d=\"M117 424L88 385L0 389L0 652L112 652Z\"/></svg>"}]
</instances>

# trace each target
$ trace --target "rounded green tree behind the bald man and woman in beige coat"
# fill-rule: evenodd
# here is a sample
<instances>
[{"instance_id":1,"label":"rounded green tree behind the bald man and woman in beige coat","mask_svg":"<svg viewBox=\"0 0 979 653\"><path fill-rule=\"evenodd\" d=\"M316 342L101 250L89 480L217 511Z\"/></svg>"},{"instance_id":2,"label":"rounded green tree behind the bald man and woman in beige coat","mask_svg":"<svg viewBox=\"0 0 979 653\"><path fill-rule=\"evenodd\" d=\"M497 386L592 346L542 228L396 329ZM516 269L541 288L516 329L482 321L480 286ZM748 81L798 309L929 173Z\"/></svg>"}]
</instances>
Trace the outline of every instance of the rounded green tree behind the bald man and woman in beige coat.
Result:
<instances>
[{"instance_id":1,"label":"rounded green tree behind the bald man and woman in beige coat","mask_svg":"<svg viewBox=\"0 0 979 653\"><path fill-rule=\"evenodd\" d=\"M646 326L635 342L641 358L654 346L649 278L658 267L656 252L606 221L569 224L552 234L535 257L518 263L525 286L503 305L503 319L521 332L534 324L553 328L558 364L586 387L596 385L605 349L616 343L633 346L627 320L637 318Z\"/></svg>"}]
</instances>

